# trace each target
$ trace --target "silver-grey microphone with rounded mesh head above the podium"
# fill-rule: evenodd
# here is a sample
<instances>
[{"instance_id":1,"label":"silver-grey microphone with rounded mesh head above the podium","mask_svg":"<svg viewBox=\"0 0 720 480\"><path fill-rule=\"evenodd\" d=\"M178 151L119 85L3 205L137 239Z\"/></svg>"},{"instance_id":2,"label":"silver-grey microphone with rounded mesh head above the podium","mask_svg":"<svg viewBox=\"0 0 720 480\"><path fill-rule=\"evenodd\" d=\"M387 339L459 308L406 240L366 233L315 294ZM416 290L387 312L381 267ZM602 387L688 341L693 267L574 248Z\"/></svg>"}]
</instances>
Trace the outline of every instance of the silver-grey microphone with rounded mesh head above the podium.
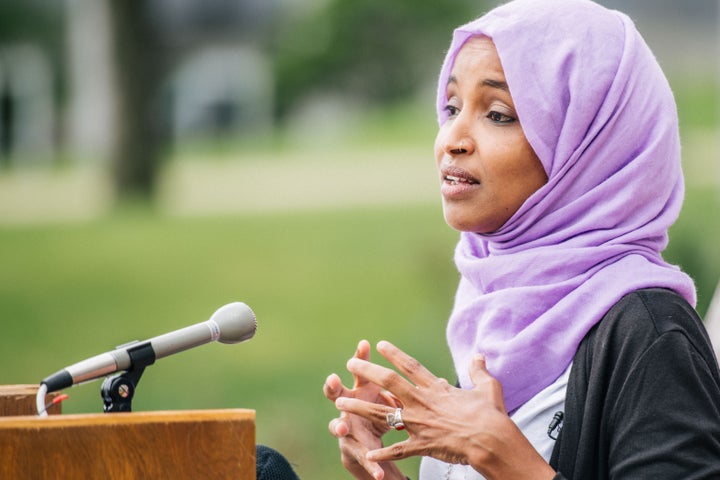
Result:
<instances>
[{"instance_id":1,"label":"silver-grey microphone with rounded mesh head above the podium","mask_svg":"<svg viewBox=\"0 0 720 480\"><path fill-rule=\"evenodd\" d=\"M115 350L101 353L54 373L40 382L47 393L62 390L78 383L95 380L105 375L132 367L131 351L150 347L155 359L203 345L208 342L239 343L255 335L257 320L253 311L242 302L228 303L217 309L210 319L153 337L144 342L120 345Z\"/></svg>"}]
</instances>

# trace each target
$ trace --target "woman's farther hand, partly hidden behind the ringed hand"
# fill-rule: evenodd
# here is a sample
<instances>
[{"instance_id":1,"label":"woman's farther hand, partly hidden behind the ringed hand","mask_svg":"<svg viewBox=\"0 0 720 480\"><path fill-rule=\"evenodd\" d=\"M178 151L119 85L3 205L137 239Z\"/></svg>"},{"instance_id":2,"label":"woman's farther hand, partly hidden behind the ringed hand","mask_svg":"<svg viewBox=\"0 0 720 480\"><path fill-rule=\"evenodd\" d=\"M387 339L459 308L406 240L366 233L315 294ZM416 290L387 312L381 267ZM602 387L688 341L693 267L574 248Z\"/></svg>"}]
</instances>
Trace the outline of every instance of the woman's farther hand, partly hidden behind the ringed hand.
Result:
<instances>
[{"instance_id":1,"label":"woman's farther hand, partly hidden behind the ringed hand","mask_svg":"<svg viewBox=\"0 0 720 480\"><path fill-rule=\"evenodd\" d=\"M358 344L353 358L363 361L370 360L370 344L366 340L362 340ZM357 375L354 375L353 378L353 388L348 389L342 384L340 377L332 374L325 381L323 393L332 402L341 397L347 397L393 409L401 406L397 399L376 384ZM355 478L373 480L405 478L394 464L375 462L367 458L368 451L382 447L381 438L389 430L384 419L374 421L370 418L342 412L339 418L330 422L329 429L330 433L338 439L343 466Z\"/></svg>"}]
</instances>

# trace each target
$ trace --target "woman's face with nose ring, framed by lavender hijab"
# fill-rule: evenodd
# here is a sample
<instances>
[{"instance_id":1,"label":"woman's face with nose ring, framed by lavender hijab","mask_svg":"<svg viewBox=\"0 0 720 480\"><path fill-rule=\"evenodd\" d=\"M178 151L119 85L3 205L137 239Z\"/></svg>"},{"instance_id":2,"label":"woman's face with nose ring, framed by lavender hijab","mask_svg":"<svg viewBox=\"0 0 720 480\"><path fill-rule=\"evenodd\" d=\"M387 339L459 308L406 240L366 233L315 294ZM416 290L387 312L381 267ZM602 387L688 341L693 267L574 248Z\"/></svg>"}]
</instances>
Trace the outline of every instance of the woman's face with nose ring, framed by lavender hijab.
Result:
<instances>
[{"instance_id":1,"label":"woman's face with nose ring, framed by lavender hijab","mask_svg":"<svg viewBox=\"0 0 720 480\"><path fill-rule=\"evenodd\" d=\"M468 40L447 84L449 118L435 139L445 221L460 231L499 229L547 182L525 138L492 40Z\"/></svg>"}]
</instances>

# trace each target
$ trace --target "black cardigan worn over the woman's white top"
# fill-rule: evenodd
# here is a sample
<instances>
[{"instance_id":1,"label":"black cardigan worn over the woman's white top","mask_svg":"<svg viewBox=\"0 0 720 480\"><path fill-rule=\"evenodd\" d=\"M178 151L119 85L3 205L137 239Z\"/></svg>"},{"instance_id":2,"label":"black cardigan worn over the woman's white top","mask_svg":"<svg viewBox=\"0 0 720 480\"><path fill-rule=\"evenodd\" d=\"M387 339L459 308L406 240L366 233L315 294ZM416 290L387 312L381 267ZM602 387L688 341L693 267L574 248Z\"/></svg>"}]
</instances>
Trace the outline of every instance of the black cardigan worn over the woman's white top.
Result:
<instances>
[{"instance_id":1,"label":"black cardigan worn over the woman's white top","mask_svg":"<svg viewBox=\"0 0 720 480\"><path fill-rule=\"evenodd\" d=\"M720 478L720 373L685 300L639 290L588 333L550 464L556 479Z\"/></svg>"}]
</instances>

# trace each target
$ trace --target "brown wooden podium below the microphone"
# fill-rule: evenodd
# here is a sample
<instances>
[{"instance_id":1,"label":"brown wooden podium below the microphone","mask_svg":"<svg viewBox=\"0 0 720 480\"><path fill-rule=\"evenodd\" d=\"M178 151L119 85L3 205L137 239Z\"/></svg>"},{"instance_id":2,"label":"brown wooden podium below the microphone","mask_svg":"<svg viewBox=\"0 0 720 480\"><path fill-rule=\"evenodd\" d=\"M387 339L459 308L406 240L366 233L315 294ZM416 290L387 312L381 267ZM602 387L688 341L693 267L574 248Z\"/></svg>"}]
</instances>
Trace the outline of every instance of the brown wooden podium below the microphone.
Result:
<instances>
[{"instance_id":1,"label":"brown wooden podium below the microphone","mask_svg":"<svg viewBox=\"0 0 720 480\"><path fill-rule=\"evenodd\" d=\"M28 415L0 386L0 478L255 480L255 412L245 409ZM9 394L10 392L10 394ZM27 397L27 395L26 395Z\"/></svg>"}]
</instances>

